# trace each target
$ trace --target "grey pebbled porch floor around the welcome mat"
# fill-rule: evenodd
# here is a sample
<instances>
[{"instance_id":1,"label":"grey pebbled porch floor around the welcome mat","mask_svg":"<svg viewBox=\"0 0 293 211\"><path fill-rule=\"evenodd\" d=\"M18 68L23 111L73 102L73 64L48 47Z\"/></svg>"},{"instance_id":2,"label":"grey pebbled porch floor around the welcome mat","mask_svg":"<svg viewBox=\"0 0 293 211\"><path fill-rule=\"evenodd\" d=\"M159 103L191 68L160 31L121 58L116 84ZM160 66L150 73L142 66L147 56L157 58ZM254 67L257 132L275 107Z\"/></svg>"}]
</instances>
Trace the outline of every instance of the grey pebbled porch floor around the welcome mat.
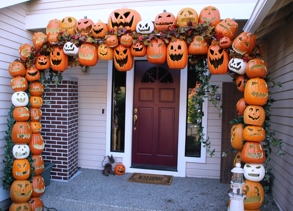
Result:
<instances>
[{"instance_id":1,"label":"grey pebbled porch floor around the welcome mat","mask_svg":"<svg viewBox=\"0 0 293 211\"><path fill-rule=\"evenodd\" d=\"M167 186L126 182L131 173L105 177L101 170L79 171L82 173L67 183L51 181L41 196L44 206L57 211L227 210L229 184L219 183L219 179L173 177ZM271 194L269 197L271 203L261 210L279 211Z\"/></svg>"}]
</instances>

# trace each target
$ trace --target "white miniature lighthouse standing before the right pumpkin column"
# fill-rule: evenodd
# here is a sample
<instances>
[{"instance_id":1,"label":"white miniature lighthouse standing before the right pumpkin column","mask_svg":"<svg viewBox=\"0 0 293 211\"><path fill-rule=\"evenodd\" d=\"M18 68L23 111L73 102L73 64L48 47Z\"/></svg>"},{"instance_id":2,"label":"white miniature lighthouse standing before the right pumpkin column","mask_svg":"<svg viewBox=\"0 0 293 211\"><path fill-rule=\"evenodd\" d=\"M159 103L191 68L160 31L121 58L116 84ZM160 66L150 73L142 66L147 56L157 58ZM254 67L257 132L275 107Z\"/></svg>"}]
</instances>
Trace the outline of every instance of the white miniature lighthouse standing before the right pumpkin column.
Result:
<instances>
[{"instance_id":1,"label":"white miniature lighthouse standing before the right pumpkin column","mask_svg":"<svg viewBox=\"0 0 293 211\"><path fill-rule=\"evenodd\" d=\"M229 190L229 196L231 198L229 211L244 211L243 199L246 197L246 191L242 190L242 186L245 184L243 179L243 173L245 171L241 168L241 164L236 163L236 167L231 170L233 177L231 179L231 187L233 190Z\"/></svg>"}]
</instances>

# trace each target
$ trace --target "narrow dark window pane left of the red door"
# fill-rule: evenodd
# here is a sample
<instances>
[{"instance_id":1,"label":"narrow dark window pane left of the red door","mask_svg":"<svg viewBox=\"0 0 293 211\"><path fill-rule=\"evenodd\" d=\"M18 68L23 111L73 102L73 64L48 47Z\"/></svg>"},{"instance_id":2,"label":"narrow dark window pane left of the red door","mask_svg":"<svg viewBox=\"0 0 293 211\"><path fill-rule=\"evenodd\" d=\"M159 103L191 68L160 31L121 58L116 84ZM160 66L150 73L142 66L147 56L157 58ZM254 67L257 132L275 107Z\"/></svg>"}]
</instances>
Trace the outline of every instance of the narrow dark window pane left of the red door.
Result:
<instances>
[{"instance_id":1,"label":"narrow dark window pane left of the red door","mask_svg":"<svg viewBox=\"0 0 293 211\"><path fill-rule=\"evenodd\" d=\"M111 127L111 152L124 152L126 72L118 71L113 65L112 80L113 121Z\"/></svg>"}]
</instances>

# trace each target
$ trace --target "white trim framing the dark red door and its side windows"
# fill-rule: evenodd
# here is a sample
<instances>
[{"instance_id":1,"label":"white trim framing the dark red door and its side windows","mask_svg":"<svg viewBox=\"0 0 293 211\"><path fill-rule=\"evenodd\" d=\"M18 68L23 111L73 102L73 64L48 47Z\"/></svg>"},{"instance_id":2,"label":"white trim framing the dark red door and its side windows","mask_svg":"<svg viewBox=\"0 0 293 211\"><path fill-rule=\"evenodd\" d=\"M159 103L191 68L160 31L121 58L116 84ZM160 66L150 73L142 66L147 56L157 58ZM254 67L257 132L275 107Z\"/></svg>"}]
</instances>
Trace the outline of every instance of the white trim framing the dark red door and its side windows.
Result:
<instances>
[{"instance_id":1,"label":"white trim framing the dark red door and its side windows","mask_svg":"<svg viewBox=\"0 0 293 211\"><path fill-rule=\"evenodd\" d=\"M135 60L147 60L147 57L134 57ZM113 60L108 60L108 83L107 83L107 110L106 110L106 156L113 154L114 157L122 158L126 172L165 174L173 176L185 177L186 162L205 163L206 150L201 147L201 157L185 157L185 135L186 135L186 109L187 109L187 68L180 71L180 105L179 105L179 130L178 130L178 163L177 171L160 171L150 169L130 168L132 156L132 111L133 111L133 93L134 93L134 65L130 71L126 73L126 103L125 103L125 148L124 153L110 151L111 138L111 109L112 109L112 72ZM207 101L207 100L206 100ZM207 134L207 102L202 105L205 115L202 118L203 132ZM206 136L204 137L206 139Z\"/></svg>"}]
</instances>

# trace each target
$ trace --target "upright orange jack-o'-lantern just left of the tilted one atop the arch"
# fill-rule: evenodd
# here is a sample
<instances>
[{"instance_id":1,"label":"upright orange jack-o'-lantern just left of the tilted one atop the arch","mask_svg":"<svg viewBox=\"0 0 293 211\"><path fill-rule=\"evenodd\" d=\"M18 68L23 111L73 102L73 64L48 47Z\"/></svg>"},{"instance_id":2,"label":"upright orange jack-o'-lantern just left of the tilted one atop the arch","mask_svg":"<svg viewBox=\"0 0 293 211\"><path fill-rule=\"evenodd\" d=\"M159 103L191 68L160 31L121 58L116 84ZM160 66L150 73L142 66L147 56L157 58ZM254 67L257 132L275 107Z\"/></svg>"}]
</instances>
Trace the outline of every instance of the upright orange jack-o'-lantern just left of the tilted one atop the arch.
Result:
<instances>
[{"instance_id":1,"label":"upright orange jack-o'-lantern just left of the tilted one atop the arch","mask_svg":"<svg viewBox=\"0 0 293 211\"><path fill-rule=\"evenodd\" d=\"M206 21L210 22L211 25L217 25L221 21L220 12L214 6L207 6L200 11L198 21L199 23Z\"/></svg>"}]
</instances>

